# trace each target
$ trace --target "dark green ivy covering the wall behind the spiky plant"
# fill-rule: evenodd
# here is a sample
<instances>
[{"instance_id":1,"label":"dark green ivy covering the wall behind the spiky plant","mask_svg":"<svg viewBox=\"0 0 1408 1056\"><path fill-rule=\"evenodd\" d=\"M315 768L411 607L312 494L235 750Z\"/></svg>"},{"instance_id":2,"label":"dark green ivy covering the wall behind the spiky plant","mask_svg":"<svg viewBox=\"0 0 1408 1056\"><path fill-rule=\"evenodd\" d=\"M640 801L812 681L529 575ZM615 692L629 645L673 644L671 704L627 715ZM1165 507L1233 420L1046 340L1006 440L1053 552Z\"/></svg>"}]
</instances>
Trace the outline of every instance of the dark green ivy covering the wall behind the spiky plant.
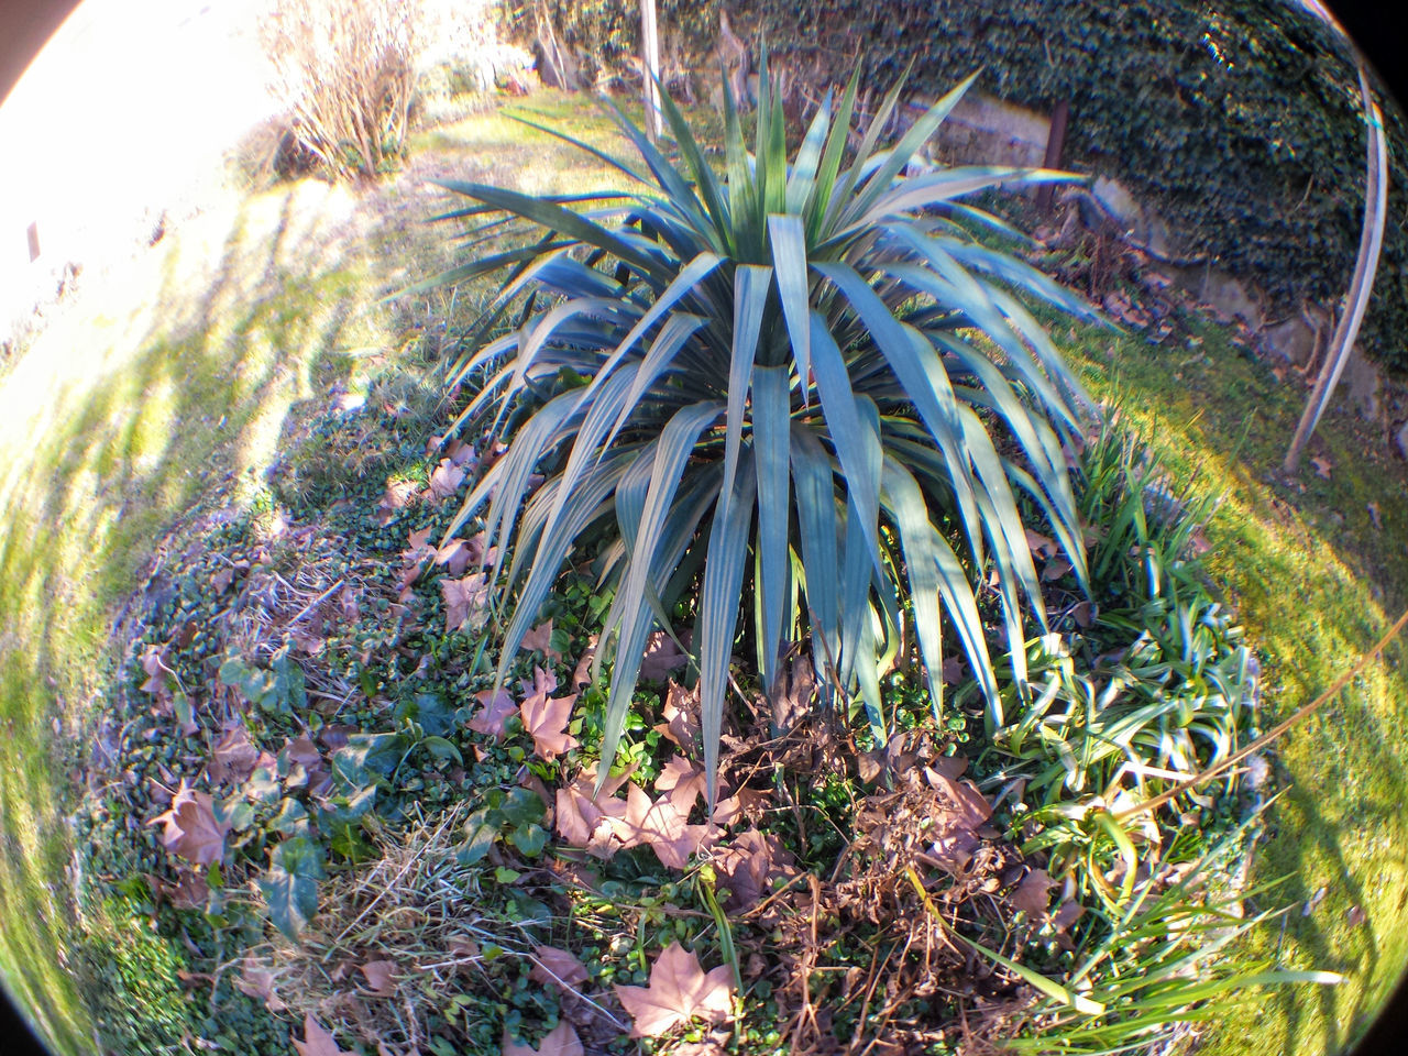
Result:
<instances>
[{"instance_id":1,"label":"dark green ivy covering the wall behind the spiky plant","mask_svg":"<svg viewBox=\"0 0 1408 1056\"><path fill-rule=\"evenodd\" d=\"M822 80L855 56L865 84L979 89L1049 110L1070 101L1064 163L1152 201L1194 255L1273 298L1338 308L1359 246L1364 124L1339 39L1294 0L660 0L686 68L717 70L718 11L753 45ZM635 0L548 0L565 42L604 69L638 52ZM715 75L717 76L717 75ZM1381 100L1387 99L1380 96ZM1385 106L1390 208L1360 345L1408 372L1408 130Z\"/></svg>"}]
</instances>

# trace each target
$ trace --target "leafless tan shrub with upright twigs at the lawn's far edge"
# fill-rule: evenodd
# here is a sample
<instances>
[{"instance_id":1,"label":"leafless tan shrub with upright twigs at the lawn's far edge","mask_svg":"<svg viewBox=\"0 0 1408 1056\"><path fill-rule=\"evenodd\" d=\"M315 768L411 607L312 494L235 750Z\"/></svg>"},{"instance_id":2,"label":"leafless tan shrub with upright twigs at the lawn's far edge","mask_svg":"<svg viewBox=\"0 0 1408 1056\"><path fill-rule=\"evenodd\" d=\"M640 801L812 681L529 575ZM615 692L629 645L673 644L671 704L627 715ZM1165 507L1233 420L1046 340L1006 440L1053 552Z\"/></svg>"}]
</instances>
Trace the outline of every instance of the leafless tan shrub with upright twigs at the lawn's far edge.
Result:
<instances>
[{"instance_id":1,"label":"leafless tan shrub with upright twigs at the lawn's far edge","mask_svg":"<svg viewBox=\"0 0 1408 1056\"><path fill-rule=\"evenodd\" d=\"M397 168L415 90L418 0L272 0L259 38L290 137L341 177Z\"/></svg>"}]
</instances>

